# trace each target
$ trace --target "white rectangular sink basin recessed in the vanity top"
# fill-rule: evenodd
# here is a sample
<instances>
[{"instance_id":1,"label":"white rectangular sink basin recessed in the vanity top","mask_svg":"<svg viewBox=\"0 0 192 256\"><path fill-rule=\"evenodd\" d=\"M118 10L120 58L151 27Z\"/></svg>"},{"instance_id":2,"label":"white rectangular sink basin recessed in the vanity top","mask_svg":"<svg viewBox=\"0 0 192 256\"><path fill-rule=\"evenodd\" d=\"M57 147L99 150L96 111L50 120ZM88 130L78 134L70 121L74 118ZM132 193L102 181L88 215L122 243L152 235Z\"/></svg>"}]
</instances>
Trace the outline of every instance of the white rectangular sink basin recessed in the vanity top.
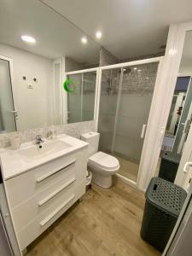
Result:
<instances>
[{"instance_id":1,"label":"white rectangular sink basin recessed in the vanity top","mask_svg":"<svg viewBox=\"0 0 192 256\"><path fill-rule=\"evenodd\" d=\"M40 145L33 145L29 148L22 148L19 151L20 157L24 160L38 160L49 154L58 153L64 149L71 148L72 145L62 141L46 142Z\"/></svg>"}]
</instances>

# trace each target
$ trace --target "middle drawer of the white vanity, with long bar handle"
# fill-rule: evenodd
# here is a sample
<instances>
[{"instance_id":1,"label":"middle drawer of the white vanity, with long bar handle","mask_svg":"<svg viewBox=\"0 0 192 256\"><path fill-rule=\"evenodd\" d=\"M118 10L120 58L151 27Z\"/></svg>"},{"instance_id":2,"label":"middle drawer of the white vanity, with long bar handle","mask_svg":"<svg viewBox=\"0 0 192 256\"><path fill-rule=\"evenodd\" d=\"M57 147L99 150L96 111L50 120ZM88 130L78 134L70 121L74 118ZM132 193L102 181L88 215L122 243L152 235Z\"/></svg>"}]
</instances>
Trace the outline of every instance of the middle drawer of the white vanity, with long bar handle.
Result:
<instances>
[{"instance_id":1,"label":"middle drawer of the white vanity, with long bar handle","mask_svg":"<svg viewBox=\"0 0 192 256\"><path fill-rule=\"evenodd\" d=\"M27 224L43 212L51 212L52 205L64 200L67 196L75 195L75 177L63 178L52 184L38 195L32 196L12 209L15 231L23 229ZM50 209L50 210L49 210Z\"/></svg>"}]
</instances>

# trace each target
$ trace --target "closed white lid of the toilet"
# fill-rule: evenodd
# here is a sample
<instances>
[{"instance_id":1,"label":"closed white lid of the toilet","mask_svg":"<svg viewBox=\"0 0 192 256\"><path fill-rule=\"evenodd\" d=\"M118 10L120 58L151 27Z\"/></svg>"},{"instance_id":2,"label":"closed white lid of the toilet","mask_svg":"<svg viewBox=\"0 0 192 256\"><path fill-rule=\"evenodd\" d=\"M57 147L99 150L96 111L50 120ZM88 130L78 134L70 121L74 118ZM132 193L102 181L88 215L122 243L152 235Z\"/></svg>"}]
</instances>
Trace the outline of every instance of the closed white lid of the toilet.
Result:
<instances>
[{"instance_id":1,"label":"closed white lid of the toilet","mask_svg":"<svg viewBox=\"0 0 192 256\"><path fill-rule=\"evenodd\" d=\"M93 166L98 166L108 171L119 167L119 160L112 155L105 154L101 151L90 156L89 163Z\"/></svg>"}]
</instances>

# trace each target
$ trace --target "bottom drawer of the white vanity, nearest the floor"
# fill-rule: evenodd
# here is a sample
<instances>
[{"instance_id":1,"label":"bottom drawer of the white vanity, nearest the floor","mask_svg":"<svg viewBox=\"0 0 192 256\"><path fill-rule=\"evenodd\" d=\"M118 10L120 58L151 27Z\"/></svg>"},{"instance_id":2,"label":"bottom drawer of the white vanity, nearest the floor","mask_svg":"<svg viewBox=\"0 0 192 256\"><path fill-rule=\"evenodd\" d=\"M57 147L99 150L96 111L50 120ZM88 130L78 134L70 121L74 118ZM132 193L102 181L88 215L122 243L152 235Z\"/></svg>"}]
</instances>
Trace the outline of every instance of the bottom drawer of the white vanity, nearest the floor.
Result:
<instances>
[{"instance_id":1,"label":"bottom drawer of the white vanity, nearest the floor","mask_svg":"<svg viewBox=\"0 0 192 256\"><path fill-rule=\"evenodd\" d=\"M55 220L67 211L69 207L73 205L85 192L85 182L79 184L75 188L75 196L66 194L65 198L58 201L56 205L49 208L49 211L45 211L38 215L38 218L32 220L25 228L17 232L17 237L20 243L20 248L23 250L32 241L34 241L41 233L44 232Z\"/></svg>"}]
</instances>

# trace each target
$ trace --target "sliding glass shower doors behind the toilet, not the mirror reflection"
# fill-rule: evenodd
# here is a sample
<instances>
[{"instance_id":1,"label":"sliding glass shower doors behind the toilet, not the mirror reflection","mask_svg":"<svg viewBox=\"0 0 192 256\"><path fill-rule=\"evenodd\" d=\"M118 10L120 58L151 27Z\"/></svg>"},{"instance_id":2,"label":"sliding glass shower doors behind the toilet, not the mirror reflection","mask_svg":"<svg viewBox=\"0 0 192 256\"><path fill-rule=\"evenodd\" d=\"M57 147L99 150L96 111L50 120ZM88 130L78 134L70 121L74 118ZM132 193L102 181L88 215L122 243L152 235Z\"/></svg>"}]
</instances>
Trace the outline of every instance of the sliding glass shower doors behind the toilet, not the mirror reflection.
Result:
<instances>
[{"instance_id":1,"label":"sliding glass shower doors behind the toilet, not the mirror reflection","mask_svg":"<svg viewBox=\"0 0 192 256\"><path fill-rule=\"evenodd\" d=\"M137 182L159 62L102 71L100 149L119 159L119 174Z\"/></svg>"}]
</instances>

